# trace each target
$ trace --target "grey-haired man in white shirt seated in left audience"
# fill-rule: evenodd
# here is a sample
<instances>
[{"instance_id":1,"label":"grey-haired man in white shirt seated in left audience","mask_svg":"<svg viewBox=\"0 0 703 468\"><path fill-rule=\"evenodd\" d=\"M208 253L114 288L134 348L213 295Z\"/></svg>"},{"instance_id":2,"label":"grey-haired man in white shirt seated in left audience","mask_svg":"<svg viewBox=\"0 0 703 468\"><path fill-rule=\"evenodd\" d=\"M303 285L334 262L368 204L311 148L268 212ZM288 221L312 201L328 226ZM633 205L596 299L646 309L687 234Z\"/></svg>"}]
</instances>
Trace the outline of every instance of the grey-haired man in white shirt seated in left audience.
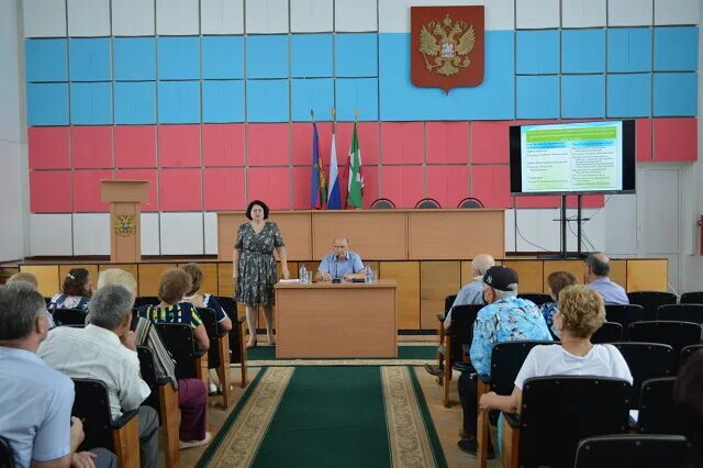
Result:
<instances>
[{"instance_id":1,"label":"grey-haired man in white shirt seated in left audience","mask_svg":"<svg viewBox=\"0 0 703 468\"><path fill-rule=\"evenodd\" d=\"M142 467L158 466L158 416L149 406L140 406L150 390L140 377L132 323L132 293L122 286L108 285L90 300L85 328L59 326L40 347L40 356L71 378L98 379L109 390L112 417L136 410L140 417Z\"/></svg>"}]
</instances>

